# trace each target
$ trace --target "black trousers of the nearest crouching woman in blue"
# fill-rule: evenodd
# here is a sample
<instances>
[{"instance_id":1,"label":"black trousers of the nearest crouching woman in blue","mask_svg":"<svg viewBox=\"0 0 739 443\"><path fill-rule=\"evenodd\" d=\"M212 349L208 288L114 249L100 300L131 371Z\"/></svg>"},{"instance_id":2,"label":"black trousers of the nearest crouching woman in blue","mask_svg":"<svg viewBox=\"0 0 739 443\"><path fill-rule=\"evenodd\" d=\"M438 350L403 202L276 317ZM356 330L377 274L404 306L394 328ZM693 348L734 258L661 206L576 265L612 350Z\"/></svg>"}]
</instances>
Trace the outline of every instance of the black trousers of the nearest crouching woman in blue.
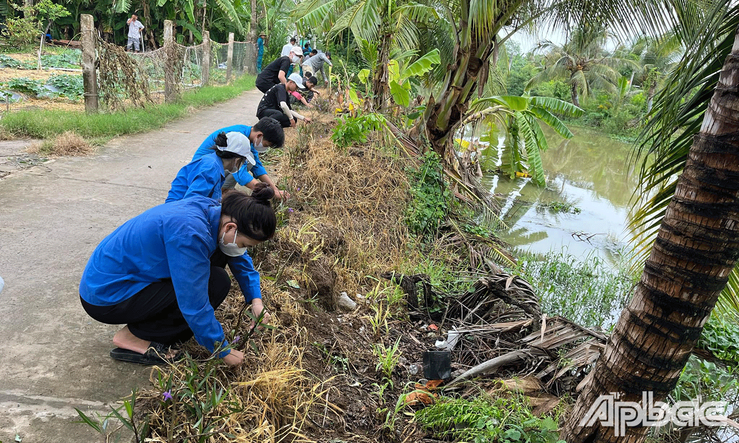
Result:
<instances>
[{"instance_id":1,"label":"black trousers of the nearest crouching woman in blue","mask_svg":"<svg viewBox=\"0 0 739 443\"><path fill-rule=\"evenodd\" d=\"M231 289L231 278L224 269L225 259L220 250L211 257L208 299L214 310L223 303ZM90 317L111 325L127 324L132 334L142 340L171 345L184 343L193 336L177 305L174 286L169 279L152 283L131 298L112 306L95 306L82 298L80 300Z\"/></svg>"}]
</instances>

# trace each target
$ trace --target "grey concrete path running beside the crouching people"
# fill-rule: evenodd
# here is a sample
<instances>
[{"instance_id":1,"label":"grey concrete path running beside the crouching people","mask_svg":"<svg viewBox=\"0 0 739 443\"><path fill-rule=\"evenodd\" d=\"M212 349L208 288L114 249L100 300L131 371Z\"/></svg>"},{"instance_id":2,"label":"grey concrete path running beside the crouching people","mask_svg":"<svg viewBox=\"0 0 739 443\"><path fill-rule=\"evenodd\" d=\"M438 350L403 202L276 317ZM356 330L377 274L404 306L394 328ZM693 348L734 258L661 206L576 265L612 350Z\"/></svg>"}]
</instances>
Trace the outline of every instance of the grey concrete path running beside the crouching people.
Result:
<instances>
[{"instance_id":1,"label":"grey concrete path running beside the crouching people","mask_svg":"<svg viewBox=\"0 0 739 443\"><path fill-rule=\"evenodd\" d=\"M149 386L149 369L111 360L118 326L87 317L80 276L98 242L160 205L208 134L256 123L254 89L159 131L119 137L93 157L52 160L0 179L0 442L97 442L73 408ZM94 415L94 414L93 414Z\"/></svg>"}]
</instances>

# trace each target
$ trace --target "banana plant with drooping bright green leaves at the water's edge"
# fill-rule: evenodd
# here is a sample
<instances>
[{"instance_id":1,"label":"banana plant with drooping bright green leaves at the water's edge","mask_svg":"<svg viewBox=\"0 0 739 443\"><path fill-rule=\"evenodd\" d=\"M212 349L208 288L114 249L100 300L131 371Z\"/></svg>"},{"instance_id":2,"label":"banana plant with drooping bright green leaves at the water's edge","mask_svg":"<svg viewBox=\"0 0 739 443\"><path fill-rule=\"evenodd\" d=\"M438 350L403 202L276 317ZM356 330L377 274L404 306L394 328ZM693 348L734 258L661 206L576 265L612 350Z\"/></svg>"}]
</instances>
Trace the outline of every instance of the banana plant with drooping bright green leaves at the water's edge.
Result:
<instances>
[{"instance_id":1,"label":"banana plant with drooping bright green leaves at the water's edge","mask_svg":"<svg viewBox=\"0 0 739 443\"><path fill-rule=\"evenodd\" d=\"M541 123L552 128L556 134L570 139L572 132L555 114L568 117L582 115L582 109L552 97L517 97L498 95L475 100L471 111L460 120L459 127L488 118L503 128L506 139L503 147L503 171L511 176L525 172L539 186L546 184L542 165L542 152L548 148Z\"/></svg>"}]
</instances>

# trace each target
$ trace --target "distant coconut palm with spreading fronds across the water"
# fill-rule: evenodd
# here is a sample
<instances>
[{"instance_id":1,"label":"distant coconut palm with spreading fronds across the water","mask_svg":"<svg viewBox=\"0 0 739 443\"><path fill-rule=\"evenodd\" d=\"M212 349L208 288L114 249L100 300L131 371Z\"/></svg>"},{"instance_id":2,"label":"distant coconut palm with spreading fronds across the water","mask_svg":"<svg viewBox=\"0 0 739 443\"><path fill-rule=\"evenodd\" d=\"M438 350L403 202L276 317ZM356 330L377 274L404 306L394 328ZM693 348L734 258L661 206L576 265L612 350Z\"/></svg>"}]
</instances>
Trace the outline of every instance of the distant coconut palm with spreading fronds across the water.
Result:
<instances>
[{"instance_id":1,"label":"distant coconut palm with spreading fronds across the water","mask_svg":"<svg viewBox=\"0 0 739 443\"><path fill-rule=\"evenodd\" d=\"M579 97L587 97L593 89L615 92L621 78L619 69L638 69L638 64L606 52L603 46L607 37L605 27L582 24L565 44L542 41L539 50L546 52L544 69L528 81L525 89L549 80L564 80L575 106L580 106Z\"/></svg>"}]
</instances>

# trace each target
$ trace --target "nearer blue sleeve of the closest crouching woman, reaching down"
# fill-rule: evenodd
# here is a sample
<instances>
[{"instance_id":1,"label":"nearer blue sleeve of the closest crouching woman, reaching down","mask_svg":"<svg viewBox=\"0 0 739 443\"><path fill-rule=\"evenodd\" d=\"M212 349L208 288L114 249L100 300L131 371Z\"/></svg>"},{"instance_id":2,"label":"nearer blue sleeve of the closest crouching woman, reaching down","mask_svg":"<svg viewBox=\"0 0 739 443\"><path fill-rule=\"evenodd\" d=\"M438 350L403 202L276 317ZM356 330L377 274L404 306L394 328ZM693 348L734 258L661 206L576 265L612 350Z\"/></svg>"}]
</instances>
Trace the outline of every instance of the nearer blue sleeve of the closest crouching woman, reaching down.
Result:
<instances>
[{"instance_id":1,"label":"nearer blue sleeve of the closest crouching woman, reaching down","mask_svg":"<svg viewBox=\"0 0 739 443\"><path fill-rule=\"evenodd\" d=\"M177 306L194 332L195 340L211 352L217 343L222 342L223 346L227 346L221 323L216 320L208 299L208 279L211 275L208 239L197 233L184 233L165 238L164 247ZM221 352L219 357L224 357L228 352Z\"/></svg>"}]
</instances>

